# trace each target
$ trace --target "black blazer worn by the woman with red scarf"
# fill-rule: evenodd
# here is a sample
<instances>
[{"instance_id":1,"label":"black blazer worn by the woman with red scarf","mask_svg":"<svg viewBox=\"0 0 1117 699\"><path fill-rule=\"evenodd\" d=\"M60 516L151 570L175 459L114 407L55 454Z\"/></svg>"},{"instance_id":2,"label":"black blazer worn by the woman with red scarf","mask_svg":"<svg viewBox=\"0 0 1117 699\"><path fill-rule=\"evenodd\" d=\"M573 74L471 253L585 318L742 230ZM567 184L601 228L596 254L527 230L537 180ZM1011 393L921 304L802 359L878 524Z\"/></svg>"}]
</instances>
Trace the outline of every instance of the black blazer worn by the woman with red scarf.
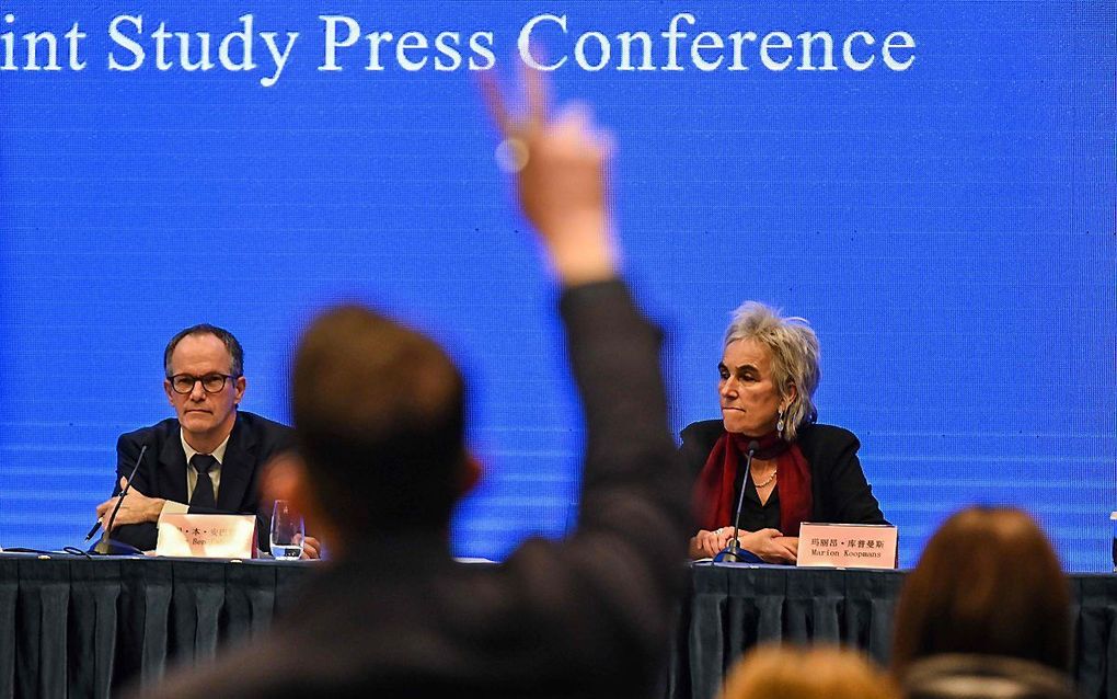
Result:
<instances>
[{"instance_id":1,"label":"black blazer worn by the woman with red scarf","mask_svg":"<svg viewBox=\"0 0 1117 699\"><path fill-rule=\"evenodd\" d=\"M697 479L710 450L725 434L719 419L693 423L682 431L679 454ZM795 442L811 466L811 521L887 525L857 459L861 443L852 432L832 425L803 425Z\"/></svg>"}]
</instances>

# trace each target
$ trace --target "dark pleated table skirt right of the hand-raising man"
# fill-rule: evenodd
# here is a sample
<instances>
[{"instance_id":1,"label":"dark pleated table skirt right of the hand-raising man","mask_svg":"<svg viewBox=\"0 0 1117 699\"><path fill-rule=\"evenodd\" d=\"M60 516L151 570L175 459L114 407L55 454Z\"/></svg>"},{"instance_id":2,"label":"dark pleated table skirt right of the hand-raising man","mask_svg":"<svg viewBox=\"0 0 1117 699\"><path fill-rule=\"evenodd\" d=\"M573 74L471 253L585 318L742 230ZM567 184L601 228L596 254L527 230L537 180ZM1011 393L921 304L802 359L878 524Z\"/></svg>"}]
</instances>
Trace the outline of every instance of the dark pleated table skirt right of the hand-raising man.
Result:
<instances>
[{"instance_id":1,"label":"dark pleated table skirt right of the hand-raising man","mask_svg":"<svg viewBox=\"0 0 1117 699\"><path fill-rule=\"evenodd\" d=\"M829 642L887 665L905 573L696 564L680 610L667 696L710 699L757 643ZM1117 699L1117 575L1071 575L1075 658L1083 698Z\"/></svg>"}]
</instances>

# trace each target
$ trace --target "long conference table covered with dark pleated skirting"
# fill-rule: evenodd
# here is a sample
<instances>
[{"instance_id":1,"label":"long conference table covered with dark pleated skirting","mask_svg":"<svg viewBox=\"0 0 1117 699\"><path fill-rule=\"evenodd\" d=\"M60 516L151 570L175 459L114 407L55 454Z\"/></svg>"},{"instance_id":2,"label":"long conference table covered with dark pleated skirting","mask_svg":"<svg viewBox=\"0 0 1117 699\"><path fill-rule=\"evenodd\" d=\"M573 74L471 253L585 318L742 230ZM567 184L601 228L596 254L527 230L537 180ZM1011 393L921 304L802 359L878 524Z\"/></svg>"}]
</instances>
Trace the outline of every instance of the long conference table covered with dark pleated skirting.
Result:
<instances>
[{"instance_id":1,"label":"long conference table covered with dark pleated skirting","mask_svg":"<svg viewBox=\"0 0 1117 699\"><path fill-rule=\"evenodd\" d=\"M268 629L318 563L0 554L0 698L109 697ZM474 565L474 564L462 564ZM904 573L690 566L670 698L716 696L763 642L840 642L887 662ZM1117 698L1117 576L1069 576L1083 697Z\"/></svg>"}]
</instances>

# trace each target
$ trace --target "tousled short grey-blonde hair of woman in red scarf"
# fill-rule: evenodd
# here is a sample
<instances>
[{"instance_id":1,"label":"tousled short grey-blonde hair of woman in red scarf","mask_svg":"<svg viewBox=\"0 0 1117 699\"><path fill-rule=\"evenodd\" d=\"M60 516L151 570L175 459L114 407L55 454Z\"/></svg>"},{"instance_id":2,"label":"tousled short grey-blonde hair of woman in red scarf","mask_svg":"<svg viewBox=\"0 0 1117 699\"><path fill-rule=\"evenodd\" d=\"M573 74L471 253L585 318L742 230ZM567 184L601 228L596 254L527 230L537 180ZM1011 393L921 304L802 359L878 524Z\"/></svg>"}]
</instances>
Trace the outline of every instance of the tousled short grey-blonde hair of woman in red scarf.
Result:
<instances>
[{"instance_id":1,"label":"tousled short grey-blonde hair of woman in red scarf","mask_svg":"<svg viewBox=\"0 0 1117 699\"><path fill-rule=\"evenodd\" d=\"M733 312L725 331L725 343L754 340L772 353L772 380L781 398L796 388L795 399L783 415L781 436L794 442L802 425L813 423L819 415L814 407L814 389L819 386L819 339L802 318L784 318L763 303L748 301Z\"/></svg>"}]
</instances>

